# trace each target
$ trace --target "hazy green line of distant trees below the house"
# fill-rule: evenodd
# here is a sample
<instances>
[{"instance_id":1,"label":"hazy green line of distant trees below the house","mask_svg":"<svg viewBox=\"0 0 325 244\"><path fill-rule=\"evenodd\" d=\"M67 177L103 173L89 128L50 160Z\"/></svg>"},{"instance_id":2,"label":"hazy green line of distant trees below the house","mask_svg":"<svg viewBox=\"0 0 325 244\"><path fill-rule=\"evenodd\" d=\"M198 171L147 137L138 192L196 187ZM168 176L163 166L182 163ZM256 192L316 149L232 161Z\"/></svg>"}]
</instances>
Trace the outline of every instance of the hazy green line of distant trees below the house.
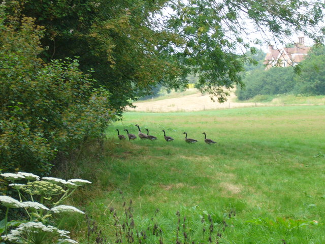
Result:
<instances>
[{"instance_id":1,"label":"hazy green line of distant trees below the house","mask_svg":"<svg viewBox=\"0 0 325 244\"><path fill-rule=\"evenodd\" d=\"M256 68L246 67L247 71L243 73L245 87L238 87L236 92L239 100L252 99L258 95L325 95L324 46L313 47L298 67L274 67L265 70L264 57L256 56L259 64Z\"/></svg>"}]
</instances>

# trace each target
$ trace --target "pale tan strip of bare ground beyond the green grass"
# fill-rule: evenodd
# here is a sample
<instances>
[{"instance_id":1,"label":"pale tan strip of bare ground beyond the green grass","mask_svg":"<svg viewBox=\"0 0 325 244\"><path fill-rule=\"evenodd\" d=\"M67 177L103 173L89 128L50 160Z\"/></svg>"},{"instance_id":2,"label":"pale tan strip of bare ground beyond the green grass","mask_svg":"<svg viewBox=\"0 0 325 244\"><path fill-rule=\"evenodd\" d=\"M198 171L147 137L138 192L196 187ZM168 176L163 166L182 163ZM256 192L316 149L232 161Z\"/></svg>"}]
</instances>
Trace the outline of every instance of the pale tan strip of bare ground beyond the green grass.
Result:
<instances>
[{"instance_id":1,"label":"pale tan strip of bare ground beyond the green grass","mask_svg":"<svg viewBox=\"0 0 325 244\"><path fill-rule=\"evenodd\" d=\"M237 103L235 94L232 94L224 103L213 102L208 95L201 93L171 98L159 101L136 102L136 108L127 108L127 111L138 112L175 112L175 111L200 111L210 109L225 109L238 107L263 106L260 103Z\"/></svg>"}]
</instances>

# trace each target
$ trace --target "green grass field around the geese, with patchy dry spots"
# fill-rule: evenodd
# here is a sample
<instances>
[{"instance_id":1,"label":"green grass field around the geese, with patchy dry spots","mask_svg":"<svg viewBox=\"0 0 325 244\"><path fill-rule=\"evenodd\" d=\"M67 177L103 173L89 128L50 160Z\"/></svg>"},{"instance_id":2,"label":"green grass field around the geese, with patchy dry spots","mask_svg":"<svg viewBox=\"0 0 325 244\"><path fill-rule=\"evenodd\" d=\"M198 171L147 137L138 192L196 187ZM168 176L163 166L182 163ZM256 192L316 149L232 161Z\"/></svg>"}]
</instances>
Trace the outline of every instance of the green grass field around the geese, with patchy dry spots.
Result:
<instances>
[{"instance_id":1,"label":"green grass field around the geese, with patchy dry spots","mask_svg":"<svg viewBox=\"0 0 325 244\"><path fill-rule=\"evenodd\" d=\"M138 134L135 124L158 140L117 139L115 129ZM108 243L127 220L146 238L122 243L325 243L325 106L125 113L107 138L106 157L78 167L94 182L86 211Z\"/></svg>"}]
</instances>

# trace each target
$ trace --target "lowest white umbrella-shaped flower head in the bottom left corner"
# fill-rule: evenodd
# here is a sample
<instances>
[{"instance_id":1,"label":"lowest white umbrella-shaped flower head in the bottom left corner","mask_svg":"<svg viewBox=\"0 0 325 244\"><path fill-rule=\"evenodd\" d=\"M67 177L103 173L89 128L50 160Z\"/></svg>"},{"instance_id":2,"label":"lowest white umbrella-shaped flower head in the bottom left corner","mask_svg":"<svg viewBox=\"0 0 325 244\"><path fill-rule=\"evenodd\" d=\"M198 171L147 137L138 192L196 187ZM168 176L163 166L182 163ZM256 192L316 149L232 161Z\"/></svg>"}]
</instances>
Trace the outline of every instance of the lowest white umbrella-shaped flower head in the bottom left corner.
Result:
<instances>
[{"instance_id":1,"label":"lowest white umbrella-shaped flower head in the bottom left corner","mask_svg":"<svg viewBox=\"0 0 325 244\"><path fill-rule=\"evenodd\" d=\"M70 239L69 231L59 230L54 226L46 226L41 222L27 222L20 224L17 229L11 230L8 235L1 236L4 240L9 240L18 243L28 243L28 237L32 235L43 234L48 237L46 242L52 243L53 238L59 238L58 243L78 243ZM22 241L23 240L23 241ZM70 241L70 242L69 242Z\"/></svg>"}]
</instances>

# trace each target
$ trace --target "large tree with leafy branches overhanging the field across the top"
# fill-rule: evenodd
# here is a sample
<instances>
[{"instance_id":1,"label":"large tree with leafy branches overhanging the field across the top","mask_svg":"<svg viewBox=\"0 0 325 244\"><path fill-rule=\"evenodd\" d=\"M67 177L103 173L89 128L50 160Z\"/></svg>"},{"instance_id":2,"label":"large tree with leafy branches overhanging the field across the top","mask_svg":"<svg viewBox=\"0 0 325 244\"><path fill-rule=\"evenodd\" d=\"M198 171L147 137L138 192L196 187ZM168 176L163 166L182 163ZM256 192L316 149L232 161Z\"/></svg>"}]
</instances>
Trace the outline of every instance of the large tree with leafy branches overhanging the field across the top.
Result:
<instances>
[{"instance_id":1,"label":"large tree with leafy branches overhanging the field across the top","mask_svg":"<svg viewBox=\"0 0 325 244\"><path fill-rule=\"evenodd\" d=\"M8 0L21 13L45 26L42 58L79 56L80 69L94 69L98 85L112 95L111 107L122 111L129 100L148 94L151 85L186 87L197 74L202 92L226 99L242 84L240 72L250 59L238 54L251 43L249 23L259 32L284 37L301 32L318 42L324 3L242 0ZM164 9L170 8L170 15ZM10 12L10 11L9 11ZM318 35L319 34L319 35ZM261 43L255 40L255 43ZM253 43L253 44L255 44Z\"/></svg>"}]
</instances>

